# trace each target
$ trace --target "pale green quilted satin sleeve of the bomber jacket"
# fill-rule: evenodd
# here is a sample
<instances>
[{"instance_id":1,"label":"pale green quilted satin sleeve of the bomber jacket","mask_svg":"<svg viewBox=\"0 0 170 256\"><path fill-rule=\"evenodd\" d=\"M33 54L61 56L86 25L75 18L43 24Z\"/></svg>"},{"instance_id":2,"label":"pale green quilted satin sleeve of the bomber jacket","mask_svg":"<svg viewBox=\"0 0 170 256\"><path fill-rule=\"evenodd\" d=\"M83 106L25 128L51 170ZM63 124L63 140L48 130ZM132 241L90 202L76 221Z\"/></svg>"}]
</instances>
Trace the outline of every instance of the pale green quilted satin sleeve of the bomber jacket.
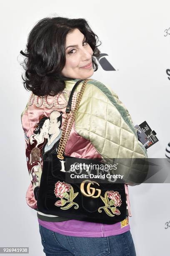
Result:
<instances>
[{"instance_id":1,"label":"pale green quilted satin sleeve of the bomber jacket","mask_svg":"<svg viewBox=\"0 0 170 256\"><path fill-rule=\"evenodd\" d=\"M80 91L81 86L82 82L76 90ZM83 92L75 118L75 130L89 140L109 164L115 158L148 158L128 110L110 87L95 79L87 83ZM146 172L144 166L135 171L130 167L122 169L127 184L133 184L130 177L135 180L139 172Z\"/></svg>"}]
</instances>

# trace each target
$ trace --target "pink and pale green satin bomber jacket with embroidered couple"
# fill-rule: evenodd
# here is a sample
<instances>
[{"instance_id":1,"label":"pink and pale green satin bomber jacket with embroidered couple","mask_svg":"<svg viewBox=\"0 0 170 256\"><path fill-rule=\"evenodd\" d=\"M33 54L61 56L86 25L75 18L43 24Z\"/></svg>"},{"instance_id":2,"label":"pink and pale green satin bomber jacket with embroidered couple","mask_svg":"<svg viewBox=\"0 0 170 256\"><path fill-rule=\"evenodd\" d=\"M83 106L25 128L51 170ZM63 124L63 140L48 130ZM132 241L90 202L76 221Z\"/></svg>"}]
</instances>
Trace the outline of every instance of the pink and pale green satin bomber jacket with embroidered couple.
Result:
<instances>
[{"instance_id":1,"label":"pink and pale green satin bomber jacket with embroidered couple","mask_svg":"<svg viewBox=\"0 0 170 256\"><path fill-rule=\"evenodd\" d=\"M78 80L65 81L65 89L55 96L48 95L42 98L31 92L21 114L31 181L26 192L26 202L37 211L37 190L40 185L43 155L49 150L57 153L70 91ZM73 94L72 110L75 108L75 101L83 82L78 84ZM57 121L61 117L62 123ZM71 115L69 120L70 118ZM148 158L145 147L138 140L132 118L125 105L110 87L95 79L86 84L64 154L90 159ZM127 178L127 215L131 217L128 184L133 185L128 183Z\"/></svg>"}]
</instances>

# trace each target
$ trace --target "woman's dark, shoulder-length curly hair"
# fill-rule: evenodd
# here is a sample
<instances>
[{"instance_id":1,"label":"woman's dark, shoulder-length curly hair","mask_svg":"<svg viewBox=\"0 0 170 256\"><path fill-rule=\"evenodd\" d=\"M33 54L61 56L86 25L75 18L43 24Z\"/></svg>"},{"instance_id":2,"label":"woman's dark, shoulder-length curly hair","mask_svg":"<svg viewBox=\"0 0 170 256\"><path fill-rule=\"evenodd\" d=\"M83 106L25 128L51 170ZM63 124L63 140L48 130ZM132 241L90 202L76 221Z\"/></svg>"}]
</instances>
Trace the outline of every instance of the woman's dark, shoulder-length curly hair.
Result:
<instances>
[{"instance_id":1,"label":"woman's dark, shoulder-length curly hair","mask_svg":"<svg viewBox=\"0 0 170 256\"><path fill-rule=\"evenodd\" d=\"M43 18L30 31L25 52L20 51L25 56L21 65L25 69L25 77L22 75L22 78L26 90L37 96L54 96L64 90L65 80L72 79L61 74L66 61L66 36L75 28L84 34L92 48L92 67L97 71L95 56L100 55L97 49L99 39L85 19Z\"/></svg>"}]
</instances>

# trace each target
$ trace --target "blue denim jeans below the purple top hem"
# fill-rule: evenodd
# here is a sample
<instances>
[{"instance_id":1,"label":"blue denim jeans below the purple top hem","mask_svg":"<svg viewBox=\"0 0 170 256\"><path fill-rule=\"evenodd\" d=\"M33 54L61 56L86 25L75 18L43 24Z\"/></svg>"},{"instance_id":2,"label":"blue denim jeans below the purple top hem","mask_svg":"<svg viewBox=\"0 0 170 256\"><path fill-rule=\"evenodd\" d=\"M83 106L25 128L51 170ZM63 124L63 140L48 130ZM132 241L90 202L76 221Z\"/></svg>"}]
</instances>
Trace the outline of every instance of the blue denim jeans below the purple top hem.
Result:
<instances>
[{"instance_id":1,"label":"blue denim jeans below the purple top hem","mask_svg":"<svg viewBox=\"0 0 170 256\"><path fill-rule=\"evenodd\" d=\"M130 230L115 236L76 237L61 235L39 224L46 256L136 256Z\"/></svg>"}]
</instances>

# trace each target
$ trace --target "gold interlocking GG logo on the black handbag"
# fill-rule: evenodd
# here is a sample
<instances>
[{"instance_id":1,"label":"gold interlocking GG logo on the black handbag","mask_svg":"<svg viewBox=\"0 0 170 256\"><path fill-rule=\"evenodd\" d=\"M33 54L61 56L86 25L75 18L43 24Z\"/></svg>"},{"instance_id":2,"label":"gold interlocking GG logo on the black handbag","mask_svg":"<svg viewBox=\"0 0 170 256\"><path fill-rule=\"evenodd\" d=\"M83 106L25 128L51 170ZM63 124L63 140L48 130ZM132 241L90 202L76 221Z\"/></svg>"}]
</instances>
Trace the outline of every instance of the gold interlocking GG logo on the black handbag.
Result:
<instances>
[{"instance_id":1,"label":"gold interlocking GG logo on the black handbag","mask_svg":"<svg viewBox=\"0 0 170 256\"><path fill-rule=\"evenodd\" d=\"M87 193L85 192L85 189L84 189L84 184L88 182L87 184ZM84 195L85 197L92 197L92 198L97 198L97 197L100 197L100 194L101 194L101 189L95 189L94 187L90 187L91 184L97 184L98 186L100 186L97 182L91 182L89 179L85 179L81 184L80 184L80 191L82 193L82 195ZM91 189L91 191L90 191ZM94 196L95 195L95 191L98 191L98 195Z\"/></svg>"}]
</instances>

